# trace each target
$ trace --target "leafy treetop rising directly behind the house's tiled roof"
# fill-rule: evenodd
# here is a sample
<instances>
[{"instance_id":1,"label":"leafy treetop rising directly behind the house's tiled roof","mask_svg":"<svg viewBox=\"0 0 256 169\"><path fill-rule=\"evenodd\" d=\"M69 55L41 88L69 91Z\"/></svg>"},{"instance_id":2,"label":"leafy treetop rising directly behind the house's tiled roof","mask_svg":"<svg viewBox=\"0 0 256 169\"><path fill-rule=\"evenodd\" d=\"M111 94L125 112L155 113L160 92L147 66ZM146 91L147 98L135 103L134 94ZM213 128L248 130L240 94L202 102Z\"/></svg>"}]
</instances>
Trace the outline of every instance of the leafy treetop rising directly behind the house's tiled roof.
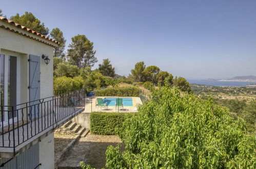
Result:
<instances>
[{"instance_id":1,"label":"leafy treetop rising directly behind the house's tiled roof","mask_svg":"<svg viewBox=\"0 0 256 169\"><path fill-rule=\"evenodd\" d=\"M25 12L24 15L19 16L17 13L15 16L10 17L15 23L21 24L29 29L32 29L42 35L48 35L49 29L45 27L45 24L37 19L31 12Z\"/></svg>"}]
</instances>

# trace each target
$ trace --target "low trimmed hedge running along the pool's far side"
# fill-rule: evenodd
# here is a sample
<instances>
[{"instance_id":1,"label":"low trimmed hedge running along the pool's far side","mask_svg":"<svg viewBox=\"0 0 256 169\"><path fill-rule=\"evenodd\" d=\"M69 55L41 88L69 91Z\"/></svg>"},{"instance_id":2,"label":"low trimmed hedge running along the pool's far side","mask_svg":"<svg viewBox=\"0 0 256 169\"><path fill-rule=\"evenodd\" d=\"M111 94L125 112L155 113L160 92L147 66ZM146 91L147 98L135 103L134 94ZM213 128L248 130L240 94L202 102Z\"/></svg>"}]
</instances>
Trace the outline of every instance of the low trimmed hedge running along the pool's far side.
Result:
<instances>
[{"instance_id":1,"label":"low trimmed hedge running along the pool's far side","mask_svg":"<svg viewBox=\"0 0 256 169\"><path fill-rule=\"evenodd\" d=\"M119 87L94 91L94 94L95 96L139 97L140 91L140 88L137 87Z\"/></svg>"}]
</instances>

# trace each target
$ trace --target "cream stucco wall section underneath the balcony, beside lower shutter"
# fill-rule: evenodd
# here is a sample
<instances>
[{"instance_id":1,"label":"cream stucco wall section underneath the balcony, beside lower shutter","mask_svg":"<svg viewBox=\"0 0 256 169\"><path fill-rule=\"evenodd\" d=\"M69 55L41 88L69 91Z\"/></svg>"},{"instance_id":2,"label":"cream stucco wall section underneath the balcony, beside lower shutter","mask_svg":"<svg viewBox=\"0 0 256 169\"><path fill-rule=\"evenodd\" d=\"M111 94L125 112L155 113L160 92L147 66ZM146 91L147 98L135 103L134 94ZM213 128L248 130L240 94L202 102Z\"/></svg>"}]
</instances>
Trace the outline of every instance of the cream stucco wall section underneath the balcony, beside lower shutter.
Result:
<instances>
[{"instance_id":1,"label":"cream stucco wall section underneath the balcony, beside lower shutter","mask_svg":"<svg viewBox=\"0 0 256 169\"><path fill-rule=\"evenodd\" d=\"M42 169L54 169L54 133L39 142L39 161Z\"/></svg>"}]
</instances>

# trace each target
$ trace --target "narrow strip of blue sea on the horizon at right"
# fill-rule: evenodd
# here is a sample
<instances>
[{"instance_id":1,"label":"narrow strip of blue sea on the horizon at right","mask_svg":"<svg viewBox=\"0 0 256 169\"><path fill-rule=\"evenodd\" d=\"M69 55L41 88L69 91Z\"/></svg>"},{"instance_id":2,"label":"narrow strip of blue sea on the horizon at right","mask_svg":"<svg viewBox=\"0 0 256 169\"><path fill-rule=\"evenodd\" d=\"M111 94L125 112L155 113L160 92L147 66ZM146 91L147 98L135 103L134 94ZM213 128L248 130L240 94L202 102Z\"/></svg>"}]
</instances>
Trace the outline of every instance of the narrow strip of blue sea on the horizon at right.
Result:
<instances>
[{"instance_id":1,"label":"narrow strip of blue sea on the horizon at right","mask_svg":"<svg viewBox=\"0 0 256 169\"><path fill-rule=\"evenodd\" d=\"M250 83L249 81L214 81L214 80L196 80L196 79L187 79L189 83L196 83L200 85L208 86L246 86Z\"/></svg>"}]
</instances>

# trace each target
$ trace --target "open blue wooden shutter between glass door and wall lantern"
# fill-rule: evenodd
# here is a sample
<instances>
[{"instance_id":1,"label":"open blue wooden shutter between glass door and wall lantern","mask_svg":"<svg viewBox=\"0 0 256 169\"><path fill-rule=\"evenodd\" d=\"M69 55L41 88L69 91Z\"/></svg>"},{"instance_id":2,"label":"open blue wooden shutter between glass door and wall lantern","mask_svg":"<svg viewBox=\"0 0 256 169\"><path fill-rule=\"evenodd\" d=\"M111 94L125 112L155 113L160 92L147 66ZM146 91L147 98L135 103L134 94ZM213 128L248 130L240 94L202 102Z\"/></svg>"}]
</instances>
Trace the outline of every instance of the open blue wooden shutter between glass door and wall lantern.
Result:
<instances>
[{"instance_id":1,"label":"open blue wooden shutter between glass door and wall lantern","mask_svg":"<svg viewBox=\"0 0 256 169\"><path fill-rule=\"evenodd\" d=\"M29 101L30 105L38 104L40 99L40 56L29 55ZM37 101L34 101L37 100ZM36 106L30 108L30 117L38 117Z\"/></svg>"}]
</instances>

